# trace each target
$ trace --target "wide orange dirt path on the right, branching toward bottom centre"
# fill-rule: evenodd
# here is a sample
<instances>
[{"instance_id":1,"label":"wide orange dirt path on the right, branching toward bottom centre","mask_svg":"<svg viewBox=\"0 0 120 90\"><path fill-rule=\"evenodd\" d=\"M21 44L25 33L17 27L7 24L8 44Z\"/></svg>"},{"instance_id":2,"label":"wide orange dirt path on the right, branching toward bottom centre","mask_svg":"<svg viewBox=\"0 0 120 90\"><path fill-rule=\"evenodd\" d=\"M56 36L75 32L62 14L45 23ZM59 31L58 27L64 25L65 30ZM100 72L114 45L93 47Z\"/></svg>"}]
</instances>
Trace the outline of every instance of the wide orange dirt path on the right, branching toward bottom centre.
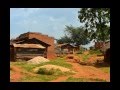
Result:
<instances>
[{"instance_id":1,"label":"wide orange dirt path on the right, branching toward bottom centre","mask_svg":"<svg viewBox=\"0 0 120 90\"><path fill-rule=\"evenodd\" d=\"M96 67L83 66L78 63L71 63L71 62L68 62L68 63L70 63L73 66L73 70L75 70L77 72L76 74L71 75L74 78L88 78L88 79L89 78L93 78L93 79L99 78L99 79L103 79L103 80L110 82L110 74L104 73L103 71L101 71L100 69L98 69ZM68 77L70 77L70 76L62 76L51 82L64 81Z\"/></svg>"}]
</instances>

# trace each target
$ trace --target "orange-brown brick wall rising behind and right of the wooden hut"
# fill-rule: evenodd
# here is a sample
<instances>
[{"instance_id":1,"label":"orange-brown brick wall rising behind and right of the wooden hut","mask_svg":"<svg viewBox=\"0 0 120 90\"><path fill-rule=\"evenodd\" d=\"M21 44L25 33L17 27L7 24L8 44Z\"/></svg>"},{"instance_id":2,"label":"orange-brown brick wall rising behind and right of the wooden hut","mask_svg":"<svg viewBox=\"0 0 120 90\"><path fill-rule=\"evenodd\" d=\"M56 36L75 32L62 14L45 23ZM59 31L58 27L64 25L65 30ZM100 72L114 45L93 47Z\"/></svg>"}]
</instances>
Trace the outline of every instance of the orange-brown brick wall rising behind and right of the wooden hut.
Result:
<instances>
[{"instance_id":1,"label":"orange-brown brick wall rising behind and right of the wooden hut","mask_svg":"<svg viewBox=\"0 0 120 90\"><path fill-rule=\"evenodd\" d=\"M47 44L50 44L51 46L48 47L48 51L47 51L47 58L54 59L56 57L55 44L54 44L53 37L49 37L48 35L43 35L41 33L29 33L29 39L31 39L31 38L37 38Z\"/></svg>"}]
</instances>

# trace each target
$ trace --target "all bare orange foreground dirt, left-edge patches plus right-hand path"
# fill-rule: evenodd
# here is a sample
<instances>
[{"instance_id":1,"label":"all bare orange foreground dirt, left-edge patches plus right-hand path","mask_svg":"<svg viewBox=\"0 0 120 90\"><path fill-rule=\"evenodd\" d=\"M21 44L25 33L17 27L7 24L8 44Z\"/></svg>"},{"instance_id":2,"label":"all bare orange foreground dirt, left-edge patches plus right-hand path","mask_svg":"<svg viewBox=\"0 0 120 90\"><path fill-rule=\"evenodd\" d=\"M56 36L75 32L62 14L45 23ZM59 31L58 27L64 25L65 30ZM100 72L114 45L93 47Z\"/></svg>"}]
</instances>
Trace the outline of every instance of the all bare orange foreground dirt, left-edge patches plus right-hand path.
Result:
<instances>
[{"instance_id":1,"label":"all bare orange foreground dirt, left-edge patches plus right-hand path","mask_svg":"<svg viewBox=\"0 0 120 90\"><path fill-rule=\"evenodd\" d=\"M78 63L72 63L72 62L67 62L72 65L72 69L76 71L77 73L74 75L68 75L68 76L60 76L55 80L52 80L50 82L61 82L67 80L69 77L73 78L92 78L92 79L102 79L110 82L110 73L105 73L102 70L100 70L97 67L94 66L85 66L85 65L80 65ZM11 82L18 82L22 77L24 77L24 69L18 66L12 66L11 67L12 75L10 76ZM29 75L35 76L36 74L26 72Z\"/></svg>"}]
</instances>

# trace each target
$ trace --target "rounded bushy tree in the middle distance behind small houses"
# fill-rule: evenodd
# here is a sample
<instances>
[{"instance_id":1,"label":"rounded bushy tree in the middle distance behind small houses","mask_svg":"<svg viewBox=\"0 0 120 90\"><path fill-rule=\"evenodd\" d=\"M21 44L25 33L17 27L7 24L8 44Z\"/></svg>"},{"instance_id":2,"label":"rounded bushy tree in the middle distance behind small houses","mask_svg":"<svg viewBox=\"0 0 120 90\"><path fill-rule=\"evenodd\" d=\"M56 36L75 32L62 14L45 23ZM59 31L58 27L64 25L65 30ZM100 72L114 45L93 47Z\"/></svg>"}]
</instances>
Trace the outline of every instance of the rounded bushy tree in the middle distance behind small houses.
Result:
<instances>
[{"instance_id":1,"label":"rounded bushy tree in the middle distance behind small houses","mask_svg":"<svg viewBox=\"0 0 120 90\"><path fill-rule=\"evenodd\" d=\"M83 27L66 26L65 33L65 36L59 39L58 43L71 43L76 46L89 43Z\"/></svg>"}]
</instances>

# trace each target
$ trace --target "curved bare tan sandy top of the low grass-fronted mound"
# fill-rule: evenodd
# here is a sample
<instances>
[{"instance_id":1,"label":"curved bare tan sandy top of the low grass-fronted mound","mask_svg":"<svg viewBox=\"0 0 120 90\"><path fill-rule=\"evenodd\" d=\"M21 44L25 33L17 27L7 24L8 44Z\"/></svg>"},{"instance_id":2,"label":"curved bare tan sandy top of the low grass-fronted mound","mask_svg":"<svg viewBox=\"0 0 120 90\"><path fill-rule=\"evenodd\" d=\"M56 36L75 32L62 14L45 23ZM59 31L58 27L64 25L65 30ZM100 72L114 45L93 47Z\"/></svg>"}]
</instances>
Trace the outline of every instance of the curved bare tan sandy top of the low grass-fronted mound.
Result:
<instances>
[{"instance_id":1,"label":"curved bare tan sandy top of the low grass-fronted mound","mask_svg":"<svg viewBox=\"0 0 120 90\"><path fill-rule=\"evenodd\" d=\"M33 69L33 71L37 72L40 68L45 68L47 70L59 69L62 72L73 72L73 73L75 73L74 71L72 71L72 70L70 70L68 68L65 68L65 67L62 67L62 66L57 66L57 65L51 65L51 64L43 65L43 66L40 66L40 67L36 67L35 69Z\"/></svg>"}]
</instances>

